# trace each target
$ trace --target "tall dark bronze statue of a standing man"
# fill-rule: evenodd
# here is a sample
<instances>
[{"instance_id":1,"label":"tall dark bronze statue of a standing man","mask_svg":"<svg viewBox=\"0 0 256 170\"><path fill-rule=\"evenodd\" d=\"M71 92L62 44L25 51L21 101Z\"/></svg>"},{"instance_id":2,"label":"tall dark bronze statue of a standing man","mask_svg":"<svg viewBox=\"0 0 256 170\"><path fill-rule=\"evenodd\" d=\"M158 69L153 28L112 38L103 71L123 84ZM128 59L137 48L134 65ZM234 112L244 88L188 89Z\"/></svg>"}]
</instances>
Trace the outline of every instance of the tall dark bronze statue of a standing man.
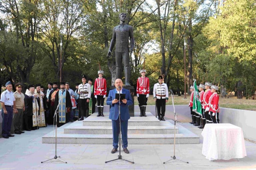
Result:
<instances>
[{"instance_id":1,"label":"tall dark bronze statue of a standing man","mask_svg":"<svg viewBox=\"0 0 256 170\"><path fill-rule=\"evenodd\" d=\"M111 52L116 42L116 78L121 79L122 75L122 59L124 63L124 76L125 85L130 86L131 69L129 65L129 38L130 38L130 51L133 51L134 37L133 27L125 24L126 14L119 14L120 25L113 28L113 36L110 42L107 56L110 57Z\"/></svg>"}]
</instances>

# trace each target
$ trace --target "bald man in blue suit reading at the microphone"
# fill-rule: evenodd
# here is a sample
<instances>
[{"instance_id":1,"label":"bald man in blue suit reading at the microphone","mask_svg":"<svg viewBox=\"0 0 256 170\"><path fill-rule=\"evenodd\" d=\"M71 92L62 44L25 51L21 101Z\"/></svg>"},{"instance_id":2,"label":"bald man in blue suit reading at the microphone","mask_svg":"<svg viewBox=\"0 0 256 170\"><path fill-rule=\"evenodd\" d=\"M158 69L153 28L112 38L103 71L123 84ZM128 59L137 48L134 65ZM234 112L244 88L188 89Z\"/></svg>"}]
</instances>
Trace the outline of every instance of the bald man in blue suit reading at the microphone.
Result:
<instances>
[{"instance_id":1,"label":"bald man in blue suit reading at the microphone","mask_svg":"<svg viewBox=\"0 0 256 170\"><path fill-rule=\"evenodd\" d=\"M120 103L120 122L121 122L121 134L122 134L122 146L125 153L129 153L127 149L127 129L128 129L128 120L130 119L128 106L133 103L131 94L129 90L122 88L123 82L121 79L115 80L115 89L110 90L107 98L107 105L110 105L110 114L109 119L112 120L112 131L113 131L113 146L111 153L115 153L118 148L119 141L119 100L115 99L116 93L125 94L125 99Z\"/></svg>"}]
</instances>

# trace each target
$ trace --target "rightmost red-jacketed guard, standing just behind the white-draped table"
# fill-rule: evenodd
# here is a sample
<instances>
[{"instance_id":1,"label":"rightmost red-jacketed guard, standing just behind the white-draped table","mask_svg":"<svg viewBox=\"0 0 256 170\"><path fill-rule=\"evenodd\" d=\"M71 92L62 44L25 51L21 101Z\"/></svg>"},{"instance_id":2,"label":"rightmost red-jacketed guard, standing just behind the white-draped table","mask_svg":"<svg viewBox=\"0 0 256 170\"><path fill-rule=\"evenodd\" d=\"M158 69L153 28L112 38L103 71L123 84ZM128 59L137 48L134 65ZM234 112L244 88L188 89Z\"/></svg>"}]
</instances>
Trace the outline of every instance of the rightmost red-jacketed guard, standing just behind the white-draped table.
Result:
<instances>
[{"instance_id":1,"label":"rightmost red-jacketed guard, standing just behind the white-draped table","mask_svg":"<svg viewBox=\"0 0 256 170\"><path fill-rule=\"evenodd\" d=\"M219 113L220 113L219 95L217 94L218 90L219 90L218 86L215 86L215 85L211 86L212 95L209 98L209 106L210 106L209 114L210 114L211 120L214 124L217 124L220 122L220 120L219 120Z\"/></svg>"}]
</instances>

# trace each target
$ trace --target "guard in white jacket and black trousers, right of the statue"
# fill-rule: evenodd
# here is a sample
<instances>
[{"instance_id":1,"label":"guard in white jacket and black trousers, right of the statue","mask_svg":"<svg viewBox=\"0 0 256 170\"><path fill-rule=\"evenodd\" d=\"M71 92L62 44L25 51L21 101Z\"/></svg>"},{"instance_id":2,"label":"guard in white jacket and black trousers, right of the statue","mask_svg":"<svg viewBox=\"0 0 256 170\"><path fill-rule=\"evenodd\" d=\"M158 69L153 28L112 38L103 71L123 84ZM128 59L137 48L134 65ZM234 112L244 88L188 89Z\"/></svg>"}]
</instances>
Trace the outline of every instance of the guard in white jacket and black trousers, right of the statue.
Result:
<instances>
[{"instance_id":1,"label":"guard in white jacket and black trousers, right of the statue","mask_svg":"<svg viewBox=\"0 0 256 170\"><path fill-rule=\"evenodd\" d=\"M163 77L158 77L158 83L153 88L154 101L156 101L157 115L159 121L165 121L165 103L168 102L168 87L163 83ZM161 111L161 113L160 113Z\"/></svg>"}]
</instances>

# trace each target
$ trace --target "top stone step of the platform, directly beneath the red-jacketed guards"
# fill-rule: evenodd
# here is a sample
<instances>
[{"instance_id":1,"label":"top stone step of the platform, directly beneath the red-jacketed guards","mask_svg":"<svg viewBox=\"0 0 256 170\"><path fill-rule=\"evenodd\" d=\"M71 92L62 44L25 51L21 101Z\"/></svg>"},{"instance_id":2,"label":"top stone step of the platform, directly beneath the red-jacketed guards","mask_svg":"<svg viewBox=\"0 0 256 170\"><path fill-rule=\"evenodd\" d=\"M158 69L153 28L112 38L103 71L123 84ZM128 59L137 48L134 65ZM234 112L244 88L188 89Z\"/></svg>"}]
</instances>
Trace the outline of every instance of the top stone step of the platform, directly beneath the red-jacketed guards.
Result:
<instances>
[{"instance_id":1,"label":"top stone step of the platform, directly beneath the red-jacketed guards","mask_svg":"<svg viewBox=\"0 0 256 170\"><path fill-rule=\"evenodd\" d=\"M139 115L139 112L135 112L134 117L129 119L128 126L160 126L160 121L150 112L146 112L147 117ZM97 117L97 113L94 113L83 120L83 126L112 126L112 121L108 117L109 112L105 112L104 117Z\"/></svg>"}]
</instances>

